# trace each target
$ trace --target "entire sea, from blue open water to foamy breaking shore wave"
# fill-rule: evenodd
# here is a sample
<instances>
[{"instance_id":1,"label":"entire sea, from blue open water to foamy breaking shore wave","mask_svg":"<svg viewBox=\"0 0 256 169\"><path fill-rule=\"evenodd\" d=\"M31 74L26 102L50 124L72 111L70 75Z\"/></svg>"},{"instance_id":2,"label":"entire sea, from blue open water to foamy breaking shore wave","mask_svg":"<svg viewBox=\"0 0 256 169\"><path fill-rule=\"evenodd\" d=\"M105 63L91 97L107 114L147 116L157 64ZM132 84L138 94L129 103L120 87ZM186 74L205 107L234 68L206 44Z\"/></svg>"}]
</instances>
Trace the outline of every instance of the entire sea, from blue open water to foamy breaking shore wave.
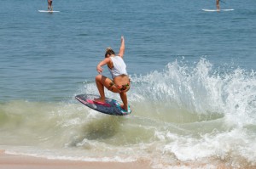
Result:
<instances>
[{"instance_id":1,"label":"entire sea, from blue open water to foamy breaking shore wave","mask_svg":"<svg viewBox=\"0 0 256 169\"><path fill-rule=\"evenodd\" d=\"M154 168L255 166L255 7L226 1L221 8L234 11L207 13L214 1L67 0L47 14L38 12L46 2L3 1L0 149ZM96 65L122 35L133 112L102 115L74 96L97 93Z\"/></svg>"}]
</instances>

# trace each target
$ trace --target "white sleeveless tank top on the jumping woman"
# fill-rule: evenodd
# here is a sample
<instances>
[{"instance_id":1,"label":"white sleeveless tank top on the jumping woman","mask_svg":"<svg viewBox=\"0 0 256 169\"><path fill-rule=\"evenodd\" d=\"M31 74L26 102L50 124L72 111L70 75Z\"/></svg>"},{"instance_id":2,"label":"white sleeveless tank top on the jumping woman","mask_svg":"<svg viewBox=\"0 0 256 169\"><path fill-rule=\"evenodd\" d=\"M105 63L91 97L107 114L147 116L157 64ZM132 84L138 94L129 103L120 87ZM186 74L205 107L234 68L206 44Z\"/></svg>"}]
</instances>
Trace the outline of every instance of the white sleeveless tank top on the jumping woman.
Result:
<instances>
[{"instance_id":1,"label":"white sleeveless tank top on the jumping woman","mask_svg":"<svg viewBox=\"0 0 256 169\"><path fill-rule=\"evenodd\" d=\"M108 70L110 71L112 78L120 75L128 76L124 59L119 56L110 57L110 59L113 62L113 68L110 69L108 67Z\"/></svg>"}]
</instances>

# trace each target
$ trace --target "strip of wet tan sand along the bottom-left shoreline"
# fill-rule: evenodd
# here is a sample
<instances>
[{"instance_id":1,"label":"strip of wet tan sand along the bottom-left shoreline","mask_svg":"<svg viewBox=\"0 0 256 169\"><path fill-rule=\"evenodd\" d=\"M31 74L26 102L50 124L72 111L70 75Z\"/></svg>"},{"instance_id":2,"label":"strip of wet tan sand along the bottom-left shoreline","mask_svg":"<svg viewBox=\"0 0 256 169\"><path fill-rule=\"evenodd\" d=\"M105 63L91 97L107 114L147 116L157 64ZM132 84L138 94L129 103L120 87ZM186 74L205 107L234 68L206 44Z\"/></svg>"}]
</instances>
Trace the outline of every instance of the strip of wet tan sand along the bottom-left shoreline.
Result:
<instances>
[{"instance_id":1,"label":"strip of wet tan sand along the bottom-left shoreline","mask_svg":"<svg viewBox=\"0 0 256 169\"><path fill-rule=\"evenodd\" d=\"M151 169L146 162L86 162L49 160L26 155L9 155L0 150L0 169Z\"/></svg>"}]
</instances>

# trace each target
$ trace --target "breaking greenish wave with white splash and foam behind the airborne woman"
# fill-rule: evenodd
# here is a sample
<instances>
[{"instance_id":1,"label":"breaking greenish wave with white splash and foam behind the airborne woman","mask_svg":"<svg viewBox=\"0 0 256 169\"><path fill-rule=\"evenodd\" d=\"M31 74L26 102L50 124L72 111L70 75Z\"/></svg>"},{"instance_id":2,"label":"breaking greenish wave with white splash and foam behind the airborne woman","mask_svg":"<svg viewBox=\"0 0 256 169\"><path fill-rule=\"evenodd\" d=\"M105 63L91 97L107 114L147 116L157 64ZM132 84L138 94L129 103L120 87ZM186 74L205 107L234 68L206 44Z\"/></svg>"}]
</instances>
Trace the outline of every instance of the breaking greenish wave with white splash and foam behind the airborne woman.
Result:
<instances>
[{"instance_id":1,"label":"breaking greenish wave with white splash and foam behind the airborne woman","mask_svg":"<svg viewBox=\"0 0 256 169\"><path fill-rule=\"evenodd\" d=\"M0 149L73 161L150 161L155 168L256 165L253 70L201 59L133 75L132 113L123 117L90 110L73 99L79 93L97 93L95 83L84 82L63 102L0 104Z\"/></svg>"}]
</instances>

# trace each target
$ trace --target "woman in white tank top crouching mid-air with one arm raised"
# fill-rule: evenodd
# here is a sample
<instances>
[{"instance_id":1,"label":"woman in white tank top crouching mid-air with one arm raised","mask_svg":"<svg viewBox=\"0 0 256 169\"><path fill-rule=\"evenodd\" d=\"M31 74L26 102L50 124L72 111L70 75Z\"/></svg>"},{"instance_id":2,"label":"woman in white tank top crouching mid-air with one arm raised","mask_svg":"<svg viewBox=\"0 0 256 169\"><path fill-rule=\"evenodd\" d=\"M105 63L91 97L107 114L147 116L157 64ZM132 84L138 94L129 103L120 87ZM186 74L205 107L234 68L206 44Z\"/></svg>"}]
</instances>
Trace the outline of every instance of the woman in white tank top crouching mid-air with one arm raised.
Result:
<instances>
[{"instance_id":1,"label":"woman in white tank top crouching mid-air with one arm raised","mask_svg":"<svg viewBox=\"0 0 256 169\"><path fill-rule=\"evenodd\" d=\"M115 54L112 48L106 49L105 59L103 59L97 66L96 70L99 75L96 76L96 86L101 95L99 99L95 99L96 102L105 102L105 93L104 87L108 88L108 90L113 93L119 93L120 98L123 101L123 105L121 107L124 110L128 110L128 100L127 94L130 89L130 79L126 71L126 65L124 62L124 54L125 54L125 38L121 37L121 47L119 49L119 54ZM103 71L102 66L108 65L108 70L111 73L113 78L109 79L106 76L102 76L101 73Z\"/></svg>"}]
</instances>

